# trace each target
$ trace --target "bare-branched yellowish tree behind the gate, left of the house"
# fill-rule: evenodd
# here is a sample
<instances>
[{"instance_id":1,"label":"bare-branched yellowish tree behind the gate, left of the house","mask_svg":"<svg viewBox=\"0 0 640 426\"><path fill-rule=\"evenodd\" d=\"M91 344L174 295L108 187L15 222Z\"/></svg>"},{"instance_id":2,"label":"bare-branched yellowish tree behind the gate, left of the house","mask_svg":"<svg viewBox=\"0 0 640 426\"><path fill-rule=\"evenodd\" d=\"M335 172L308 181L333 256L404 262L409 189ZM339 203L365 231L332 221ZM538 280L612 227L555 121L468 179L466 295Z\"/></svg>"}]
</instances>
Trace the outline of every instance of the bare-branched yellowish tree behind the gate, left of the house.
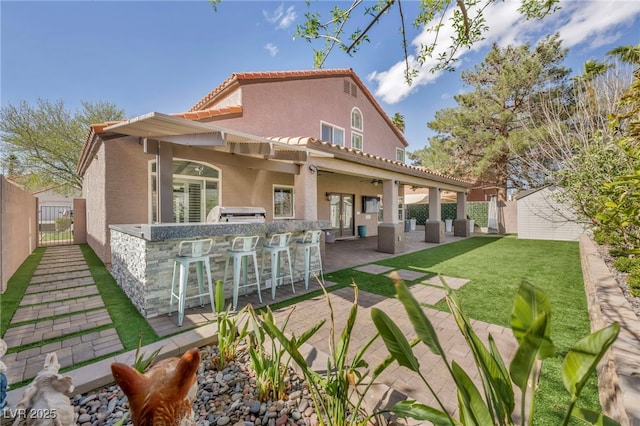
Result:
<instances>
[{"instance_id":1,"label":"bare-branched yellowish tree behind the gate, left of the house","mask_svg":"<svg viewBox=\"0 0 640 426\"><path fill-rule=\"evenodd\" d=\"M89 126L124 117L124 110L103 101L83 101L69 111L64 102L22 101L0 110L3 169L28 189L80 189L76 165Z\"/></svg>"}]
</instances>

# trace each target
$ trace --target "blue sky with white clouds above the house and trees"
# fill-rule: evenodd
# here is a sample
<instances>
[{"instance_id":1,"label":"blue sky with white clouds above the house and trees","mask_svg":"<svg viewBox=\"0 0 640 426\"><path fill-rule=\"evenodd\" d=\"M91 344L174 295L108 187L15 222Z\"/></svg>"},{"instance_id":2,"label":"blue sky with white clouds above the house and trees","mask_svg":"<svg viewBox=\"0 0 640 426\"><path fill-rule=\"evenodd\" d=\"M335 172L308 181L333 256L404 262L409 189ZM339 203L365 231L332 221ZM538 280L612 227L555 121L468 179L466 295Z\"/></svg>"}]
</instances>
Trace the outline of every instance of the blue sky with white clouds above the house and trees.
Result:
<instances>
[{"instance_id":1,"label":"blue sky with white clouds above the house and trees","mask_svg":"<svg viewBox=\"0 0 640 426\"><path fill-rule=\"evenodd\" d=\"M336 3L311 7L326 10ZM487 9L486 40L463 53L455 72L430 73L427 63L406 85L396 8L373 28L371 43L353 57L335 50L325 68L353 68L389 116L403 114L413 151L427 143L426 123L435 112L455 106L452 96L464 90L460 71L480 62L493 42L535 44L559 31L569 48L565 66L574 73L613 47L640 43L638 0L561 1L561 10L543 21L522 20L518 5L506 0ZM413 54L427 35L411 24L418 2L404 0L402 6ZM107 100L128 117L186 111L233 72L312 68L314 45L293 39L308 10L303 1L223 0L214 11L206 0L2 0L2 106L40 97L62 99L71 109L80 100Z\"/></svg>"}]
</instances>

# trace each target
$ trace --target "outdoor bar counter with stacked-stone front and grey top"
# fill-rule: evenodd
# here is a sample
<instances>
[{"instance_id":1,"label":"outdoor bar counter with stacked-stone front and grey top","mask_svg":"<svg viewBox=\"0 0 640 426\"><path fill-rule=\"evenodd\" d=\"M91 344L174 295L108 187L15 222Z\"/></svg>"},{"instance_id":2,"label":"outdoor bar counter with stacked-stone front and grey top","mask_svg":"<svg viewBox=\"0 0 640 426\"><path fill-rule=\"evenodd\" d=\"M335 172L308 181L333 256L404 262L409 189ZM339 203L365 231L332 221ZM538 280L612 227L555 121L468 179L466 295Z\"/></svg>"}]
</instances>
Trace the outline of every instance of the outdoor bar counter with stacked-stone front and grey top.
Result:
<instances>
[{"instance_id":1,"label":"outdoor bar counter with stacked-stone front and grey top","mask_svg":"<svg viewBox=\"0 0 640 426\"><path fill-rule=\"evenodd\" d=\"M151 318L169 312L169 295L173 277L173 264L181 241L202 238L213 239L211 251L211 277L222 280L227 249L233 238L240 235L257 235L258 268L261 248L272 234L291 232L291 257L294 257L296 241L305 231L331 229L329 221L282 220L269 223L189 223L189 224L133 224L111 225L111 275L126 293L138 311ZM324 239L321 247L324 248ZM268 267L265 262L265 268ZM300 263L300 262L299 262ZM232 269L231 267L229 268ZM294 281L300 281L300 268L294 268ZM251 266L249 267L251 271ZM297 271L296 271L297 270ZM231 272L230 272L231 274ZM195 270L189 274L188 289L196 289ZM206 274L205 274L206 281ZM232 294L231 279L225 285L225 298ZM264 289L264 279L261 277ZM205 283L206 285L206 283ZM255 288L252 289L255 291ZM251 290L250 290L251 291ZM187 293L189 295L189 293ZM271 292L263 291L263 300L271 300ZM277 294L276 294L277 300ZM192 304L197 299L187 300ZM174 306L175 309L175 306Z\"/></svg>"}]
</instances>

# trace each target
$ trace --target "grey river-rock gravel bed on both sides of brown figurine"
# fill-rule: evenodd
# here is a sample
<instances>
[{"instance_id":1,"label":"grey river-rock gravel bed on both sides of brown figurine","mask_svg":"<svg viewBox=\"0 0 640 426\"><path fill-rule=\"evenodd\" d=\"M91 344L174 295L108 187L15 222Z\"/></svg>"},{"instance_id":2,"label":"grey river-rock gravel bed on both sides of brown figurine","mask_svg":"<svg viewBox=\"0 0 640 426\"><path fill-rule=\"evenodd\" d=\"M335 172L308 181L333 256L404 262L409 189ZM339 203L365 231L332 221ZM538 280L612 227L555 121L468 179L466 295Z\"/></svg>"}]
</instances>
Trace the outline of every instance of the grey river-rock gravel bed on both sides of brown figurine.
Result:
<instances>
[{"instance_id":1,"label":"grey river-rock gravel bed on both sides of brown figurine","mask_svg":"<svg viewBox=\"0 0 640 426\"><path fill-rule=\"evenodd\" d=\"M304 380L288 372L286 400L261 402L250 369L246 342L238 348L235 361L218 371L212 365L216 346L200 348L198 395L194 403L198 426L315 426L318 417ZM108 426L129 411L127 397L115 383L71 398L80 426ZM130 425L129 421L125 425Z\"/></svg>"}]
</instances>

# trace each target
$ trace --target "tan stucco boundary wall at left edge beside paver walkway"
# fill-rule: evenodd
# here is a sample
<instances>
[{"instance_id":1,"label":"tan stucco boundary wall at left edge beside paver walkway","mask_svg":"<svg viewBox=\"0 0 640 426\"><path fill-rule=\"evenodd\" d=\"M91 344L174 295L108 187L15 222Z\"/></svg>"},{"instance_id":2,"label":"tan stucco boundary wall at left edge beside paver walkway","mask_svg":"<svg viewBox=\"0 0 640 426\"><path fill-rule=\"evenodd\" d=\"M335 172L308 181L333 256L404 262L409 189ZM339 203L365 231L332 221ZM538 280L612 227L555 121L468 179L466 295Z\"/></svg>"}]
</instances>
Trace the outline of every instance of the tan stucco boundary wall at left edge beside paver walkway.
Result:
<instances>
[{"instance_id":1,"label":"tan stucco boundary wall at left edge beside paver walkway","mask_svg":"<svg viewBox=\"0 0 640 426\"><path fill-rule=\"evenodd\" d=\"M0 292L38 242L37 200L0 175Z\"/></svg>"}]
</instances>

